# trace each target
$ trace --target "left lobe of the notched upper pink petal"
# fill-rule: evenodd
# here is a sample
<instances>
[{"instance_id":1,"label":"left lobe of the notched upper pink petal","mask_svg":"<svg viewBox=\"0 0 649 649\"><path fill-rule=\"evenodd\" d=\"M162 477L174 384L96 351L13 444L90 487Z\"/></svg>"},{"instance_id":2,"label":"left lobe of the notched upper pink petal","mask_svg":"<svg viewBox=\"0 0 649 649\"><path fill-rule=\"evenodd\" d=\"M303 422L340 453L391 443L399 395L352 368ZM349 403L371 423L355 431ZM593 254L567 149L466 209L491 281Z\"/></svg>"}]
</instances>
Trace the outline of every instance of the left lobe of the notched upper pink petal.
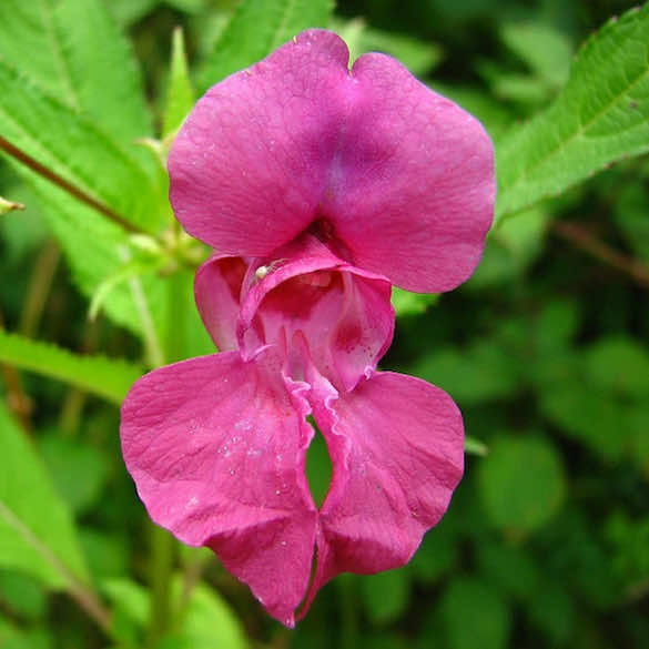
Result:
<instances>
[{"instance_id":1,"label":"left lobe of the notched upper pink petal","mask_svg":"<svg viewBox=\"0 0 649 649\"><path fill-rule=\"evenodd\" d=\"M169 155L170 199L190 234L224 253L262 256L313 221L347 57L335 34L306 32L199 101Z\"/></svg>"}]
</instances>

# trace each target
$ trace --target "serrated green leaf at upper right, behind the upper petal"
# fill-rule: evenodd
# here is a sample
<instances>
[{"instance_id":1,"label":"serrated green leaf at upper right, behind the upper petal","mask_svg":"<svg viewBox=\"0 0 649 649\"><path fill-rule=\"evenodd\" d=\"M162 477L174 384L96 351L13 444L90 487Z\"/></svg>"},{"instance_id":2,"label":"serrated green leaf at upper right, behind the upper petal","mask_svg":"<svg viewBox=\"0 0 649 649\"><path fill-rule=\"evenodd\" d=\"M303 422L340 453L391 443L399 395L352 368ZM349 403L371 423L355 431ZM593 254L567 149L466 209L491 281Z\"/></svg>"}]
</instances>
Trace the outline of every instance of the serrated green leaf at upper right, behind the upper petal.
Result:
<instances>
[{"instance_id":1,"label":"serrated green leaf at upper right, behind the upper petal","mask_svg":"<svg viewBox=\"0 0 649 649\"><path fill-rule=\"evenodd\" d=\"M649 151L649 4L609 21L555 103L500 142L497 219Z\"/></svg>"}]
</instances>

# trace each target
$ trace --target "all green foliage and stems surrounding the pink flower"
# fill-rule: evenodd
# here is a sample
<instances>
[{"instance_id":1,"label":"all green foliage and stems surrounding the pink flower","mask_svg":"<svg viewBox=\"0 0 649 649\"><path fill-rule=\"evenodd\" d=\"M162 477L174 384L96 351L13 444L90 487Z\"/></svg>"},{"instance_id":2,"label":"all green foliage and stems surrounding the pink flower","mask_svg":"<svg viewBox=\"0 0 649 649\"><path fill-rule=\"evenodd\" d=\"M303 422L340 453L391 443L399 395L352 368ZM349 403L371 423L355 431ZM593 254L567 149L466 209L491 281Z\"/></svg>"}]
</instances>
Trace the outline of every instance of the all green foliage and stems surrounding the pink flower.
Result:
<instances>
[{"instance_id":1,"label":"all green foliage and stems surrounding the pink flower","mask_svg":"<svg viewBox=\"0 0 649 649\"><path fill-rule=\"evenodd\" d=\"M332 10L0 2L2 649L649 646L649 7ZM410 565L337 578L288 631L210 552L152 529L116 405L145 367L212 352L191 291L206 251L166 201L175 130L207 87L310 26L478 115L499 195L465 286L395 292L382 364L465 415L450 510ZM324 445L308 470L326 489Z\"/></svg>"}]
</instances>

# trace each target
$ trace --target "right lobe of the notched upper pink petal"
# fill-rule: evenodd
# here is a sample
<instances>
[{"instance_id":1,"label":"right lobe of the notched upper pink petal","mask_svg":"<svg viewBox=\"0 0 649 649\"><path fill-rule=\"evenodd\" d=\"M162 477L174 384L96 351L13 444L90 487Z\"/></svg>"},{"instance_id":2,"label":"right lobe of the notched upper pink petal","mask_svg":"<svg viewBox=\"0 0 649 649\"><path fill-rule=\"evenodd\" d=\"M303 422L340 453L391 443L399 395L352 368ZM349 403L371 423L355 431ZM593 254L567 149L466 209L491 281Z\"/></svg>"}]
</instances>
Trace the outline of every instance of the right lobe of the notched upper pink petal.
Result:
<instances>
[{"instance_id":1,"label":"right lobe of the notched upper pink petal","mask_svg":"<svg viewBox=\"0 0 649 649\"><path fill-rule=\"evenodd\" d=\"M365 54L323 213L354 263L409 291L442 292L480 261L496 194L481 124L400 63Z\"/></svg>"}]
</instances>

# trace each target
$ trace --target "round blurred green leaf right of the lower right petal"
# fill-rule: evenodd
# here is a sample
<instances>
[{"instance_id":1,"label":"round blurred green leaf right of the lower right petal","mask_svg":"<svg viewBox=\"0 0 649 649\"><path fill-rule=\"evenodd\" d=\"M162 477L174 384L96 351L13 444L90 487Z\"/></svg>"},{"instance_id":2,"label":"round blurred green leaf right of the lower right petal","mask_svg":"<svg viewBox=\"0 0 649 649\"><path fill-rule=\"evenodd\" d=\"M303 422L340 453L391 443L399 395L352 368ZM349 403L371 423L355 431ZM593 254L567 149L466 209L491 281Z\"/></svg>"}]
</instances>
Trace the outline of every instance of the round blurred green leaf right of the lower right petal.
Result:
<instances>
[{"instance_id":1,"label":"round blurred green leaf right of the lower right petal","mask_svg":"<svg viewBox=\"0 0 649 649\"><path fill-rule=\"evenodd\" d=\"M564 500L561 458L542 437L500 437L479 471L480 494L491 523L526 533L545 525Z\"/></svg>"}]
</instances>

